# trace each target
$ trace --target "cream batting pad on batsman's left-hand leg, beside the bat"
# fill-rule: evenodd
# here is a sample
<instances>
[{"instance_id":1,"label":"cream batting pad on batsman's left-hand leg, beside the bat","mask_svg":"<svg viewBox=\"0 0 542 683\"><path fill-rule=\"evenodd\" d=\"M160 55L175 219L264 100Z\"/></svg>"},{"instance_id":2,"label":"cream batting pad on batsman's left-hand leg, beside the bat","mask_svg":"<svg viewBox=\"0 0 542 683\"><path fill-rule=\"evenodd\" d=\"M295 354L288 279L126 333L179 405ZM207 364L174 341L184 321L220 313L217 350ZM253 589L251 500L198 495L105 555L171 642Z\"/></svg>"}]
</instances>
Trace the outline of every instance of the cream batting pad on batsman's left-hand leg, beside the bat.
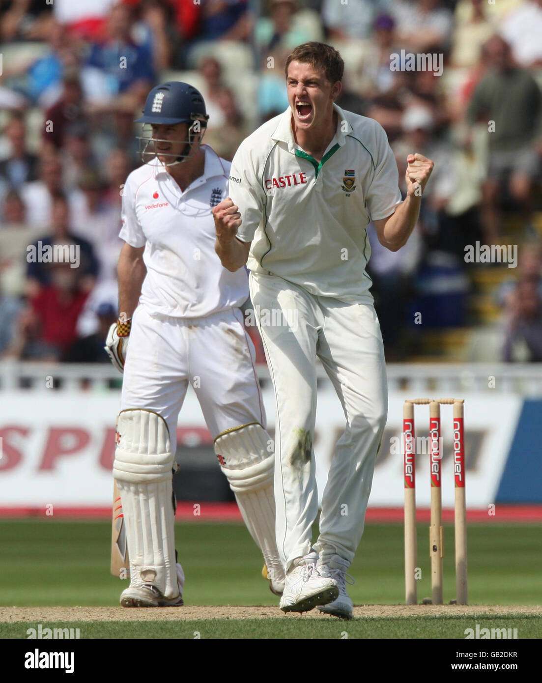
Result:
<instances>
[{"instance_id":1,"label":"cream batting pad on batsman's left-hand leg, beside the bat","mask_svg":"<svg viewBox=\"0 0 542 683\"><path fill-rule=\"evenodd\" d=\"M152 584L173 599L179 587L167 425L157 413L123 410L117 432L113 476L126 524L130 585Z\"/></svg>"}]
</instances>

